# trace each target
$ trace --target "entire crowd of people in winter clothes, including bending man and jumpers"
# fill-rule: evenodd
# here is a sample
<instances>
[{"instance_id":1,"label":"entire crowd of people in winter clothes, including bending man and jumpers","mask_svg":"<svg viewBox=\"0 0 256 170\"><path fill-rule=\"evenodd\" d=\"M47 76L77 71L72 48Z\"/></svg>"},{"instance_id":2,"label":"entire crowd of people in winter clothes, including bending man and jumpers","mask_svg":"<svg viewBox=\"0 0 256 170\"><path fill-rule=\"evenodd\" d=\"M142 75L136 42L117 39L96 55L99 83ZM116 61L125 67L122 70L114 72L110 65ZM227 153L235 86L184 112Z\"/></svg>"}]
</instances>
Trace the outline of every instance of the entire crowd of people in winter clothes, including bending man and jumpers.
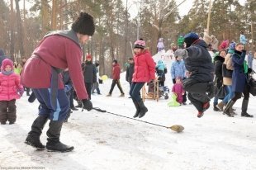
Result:
<instances>
[{"instance_id":1,"label":"entire crowd of people in winter clothes, including bending man and jumpers","mask_svg":"<svg viewBox=\"0 0 256 170\"><path fill-rule=\"evenodd\" d=\"M73 22L69 31L52 31L40 41L31 57L23 58L21 64L12 62L0 50L0 122L5 125L15 123L16 100L26 90L29 102L36 99L40 103L39 113L31 125L25 143L36 149L48 149L57 152L69 152L73 146L59 141L60 131L64 122L67 122L72 111L82 107L92 110L91 98L97 91L101 95L99 83L98 61L92 62L92 55L87 54L86 60L81 62L82 50L80 45L85 44L95 31L92 16L81 12ZM215 37L215 36L211 36ZM136 40L134 56L129 58L126 68L126 81L130 84L129 95L135 106L134 118L142 118L148 111L143 102L140 90L145 83L159 81L164 87L166 76L173 80L172 92L177 96L180 105L187 105L187 98L197 109L197 117L204 115L209 109L211 98L213 110L222 111L227 116L236 115L235 102L243 96L241 116L253 117L247 113L249 106L249 74L256 70L256 52L247 54L245 47L247 39L241 32L239 43L235 40L229 44L224 40L219 51L214 50L211 56L211 44L206 44L194 32L178 37L178 45L172 44L174 61L167 73L166 64L162 59L156 63L145 40ZM164 50L164 39L160 38L158 51ZM247 59L245 59L247 56ZM247 62L246 62L247 60ZM81 65L81 67L78 67ZM44 74L41 74L44 72ZM120 83L121 67L117 59L112 61L112 83L107 97L111 97L117 85L125 97ZM218 94L225 91L225 96ZM31 92L31 93L30 93ZM74 106L76 99L78 106ZM40 135L50 120L46 146L40 142Z\"/></svg>"}]
</instances>

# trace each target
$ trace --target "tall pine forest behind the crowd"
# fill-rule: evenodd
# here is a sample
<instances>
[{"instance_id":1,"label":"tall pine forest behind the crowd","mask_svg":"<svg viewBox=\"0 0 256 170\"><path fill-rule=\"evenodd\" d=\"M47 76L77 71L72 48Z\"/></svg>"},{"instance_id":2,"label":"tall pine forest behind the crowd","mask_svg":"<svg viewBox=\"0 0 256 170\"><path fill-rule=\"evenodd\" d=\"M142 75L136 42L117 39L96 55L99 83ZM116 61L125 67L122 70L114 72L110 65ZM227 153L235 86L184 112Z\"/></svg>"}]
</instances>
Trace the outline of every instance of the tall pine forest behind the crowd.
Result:
<instances>
[{"instance_id":1,"label":"tall pine forest behind the crowd","mask_svg":"<svg viewBox=\"0 0 256 170\"><path fill-rule=\"evenodd\" d=\"M189 0L190 1L190 0ZM210 12L209 35L222 40L239 41L240 31L255 50L256 1L193 0L191 9L181 16L175 0L0 0L0 48L17 62L29 58L48 31L69 29L81 11L90 13L96 32L83 46L83 59L92 54L100 63L100 74L111 75L111 61L121 68L133 56L132 45L143 38L152 54L164 38L165 49L177 44L179 35L195 31L203 36ZM211 2L211 10L210 8ZM135 9L136 16L130 15Z\"/></svg>"}]
</instances>

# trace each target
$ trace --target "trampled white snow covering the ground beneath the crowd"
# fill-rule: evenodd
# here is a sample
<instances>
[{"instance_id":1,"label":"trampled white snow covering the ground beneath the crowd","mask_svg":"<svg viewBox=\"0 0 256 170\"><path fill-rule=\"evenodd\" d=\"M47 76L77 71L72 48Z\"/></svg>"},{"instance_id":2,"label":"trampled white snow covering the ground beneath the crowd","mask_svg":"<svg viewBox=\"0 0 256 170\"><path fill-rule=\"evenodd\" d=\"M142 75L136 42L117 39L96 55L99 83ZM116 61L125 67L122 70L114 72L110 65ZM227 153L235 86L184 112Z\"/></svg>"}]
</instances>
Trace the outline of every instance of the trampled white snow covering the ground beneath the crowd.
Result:
<instances>
[{"instance_id":1,"label":"trampled white snow covering the ground beneath the crowd","mask_svg":"<svg viewBox=\"0 0 256 170\"><path fill-rule=\"evenodd\" d=\"M154 56L161 59L161 54ZM162 56L163 59L163 56ZM168 66L171 59L164 59ZM132 117L135 106L128 98L125 73L121 85L126 97L106 97L111 79L100 85L103 95L92 95L93 106L121 116ZM0 169L256 169L256 99L250 97L249 114L239 116L242 100L235 103L238 116L230 118L213 111L212 106L200 119L192 105L168 107L168 100L146 100L149 112L140 120L159 125L183 125L183 133L140 121L98 111L73 111L61 132L61 141L74 146L69 153L37 151L24 144L36 119L38 102L28 103L26 96L17 100L17 122L0 125ZM211 102L212 103L212 102ZM40 137L46 143L46 130Z\"/></svg>"}]
</instances>

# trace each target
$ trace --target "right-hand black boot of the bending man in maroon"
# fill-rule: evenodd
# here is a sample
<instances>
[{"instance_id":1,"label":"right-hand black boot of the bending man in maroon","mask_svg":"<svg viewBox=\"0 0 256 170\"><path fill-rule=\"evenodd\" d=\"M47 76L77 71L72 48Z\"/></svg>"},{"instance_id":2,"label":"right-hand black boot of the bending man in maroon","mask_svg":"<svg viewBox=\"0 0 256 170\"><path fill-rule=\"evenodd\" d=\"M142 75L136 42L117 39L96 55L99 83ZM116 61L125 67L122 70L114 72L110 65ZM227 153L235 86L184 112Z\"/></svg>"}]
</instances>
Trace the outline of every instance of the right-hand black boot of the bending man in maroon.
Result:
<instances>
[{"instance_id":1,"label":"right-hand black boot of the bending man in maroon","mask_svg":"<svg viewBox=\"0 0 256 170\"><path fill-rule=\"evenodd\" d=\"M62 144L59 141L60 131L63 125L63 121L50 120L49 130L47 130L46 135L48 136L46 149L52 152L69 152L73 150L73 146L68 146Z\"/></svg>"}]
</instances>

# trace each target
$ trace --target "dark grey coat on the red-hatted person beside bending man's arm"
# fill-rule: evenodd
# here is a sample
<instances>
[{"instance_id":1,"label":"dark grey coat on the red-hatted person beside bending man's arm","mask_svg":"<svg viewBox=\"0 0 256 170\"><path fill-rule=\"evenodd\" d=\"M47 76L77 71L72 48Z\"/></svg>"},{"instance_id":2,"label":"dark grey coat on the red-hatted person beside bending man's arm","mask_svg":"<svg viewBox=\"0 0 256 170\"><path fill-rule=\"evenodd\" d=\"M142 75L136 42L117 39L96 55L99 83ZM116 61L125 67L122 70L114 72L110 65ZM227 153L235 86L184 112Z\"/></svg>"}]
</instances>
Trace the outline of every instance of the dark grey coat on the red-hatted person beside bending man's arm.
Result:
<instances>
[{"instance_id":1,"label":"dark grey coat on the red-hatted person beside bending man's arm","mask_svg":"<svg viewBox=\"0 0 256 170\"><path fill-rule=\"evenodd\" d=\"M97 70L95 64L91 61L86 61L83 68L84 83L97 82Z\"/></svg>"}]
</instances>

